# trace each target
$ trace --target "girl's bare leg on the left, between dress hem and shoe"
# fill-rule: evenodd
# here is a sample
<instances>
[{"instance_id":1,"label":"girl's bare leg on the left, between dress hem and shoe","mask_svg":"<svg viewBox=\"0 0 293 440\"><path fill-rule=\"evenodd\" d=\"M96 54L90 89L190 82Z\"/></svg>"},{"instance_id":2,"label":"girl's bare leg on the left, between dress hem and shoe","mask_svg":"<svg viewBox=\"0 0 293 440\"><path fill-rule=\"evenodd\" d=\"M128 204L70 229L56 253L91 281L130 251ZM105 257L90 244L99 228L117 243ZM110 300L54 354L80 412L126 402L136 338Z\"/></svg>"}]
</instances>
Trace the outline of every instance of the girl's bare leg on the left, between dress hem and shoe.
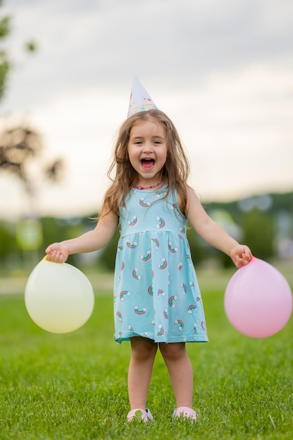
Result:
<instances>
[{"instance_id":1,"label":"girl's bare leg on the left, between dress hem and shoe","mask_svg":"<svg viewBox=\"0 0 293 440\"><path fill-rule=\"evenodd\" d=\"M157 344L152 339L140 336L131 337L130 340L131 359L128 371L130 408L145 409Z\"/></svg>"}]
</instances>

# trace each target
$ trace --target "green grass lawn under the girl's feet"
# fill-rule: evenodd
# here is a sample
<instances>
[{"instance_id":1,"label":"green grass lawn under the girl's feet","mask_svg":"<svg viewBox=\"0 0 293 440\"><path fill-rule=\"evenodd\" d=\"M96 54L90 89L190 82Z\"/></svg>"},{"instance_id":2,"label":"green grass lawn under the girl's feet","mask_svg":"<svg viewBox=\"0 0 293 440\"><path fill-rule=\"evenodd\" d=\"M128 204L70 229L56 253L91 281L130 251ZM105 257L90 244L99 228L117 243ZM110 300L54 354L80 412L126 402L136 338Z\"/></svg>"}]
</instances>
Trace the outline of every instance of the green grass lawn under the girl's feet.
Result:
<instances>
[{"instance_id":1,"label":"green grass lawn under the girl's feet","mask_svg":"<svg viewBox=\"0 0 293 440\"><path fill-rule=\"evenodd\" d=\"M83 328L41 330L23 297L0 304L0 439L292 439L293 322L273 337L251 339L228 323L223 291L202 292L209 344L188 344L196 425L172 420L174 395L158 355L148 406L155 421L128 425L129 344L112 340L112 296L98 292Z\"/></svg>"}]
</instances>

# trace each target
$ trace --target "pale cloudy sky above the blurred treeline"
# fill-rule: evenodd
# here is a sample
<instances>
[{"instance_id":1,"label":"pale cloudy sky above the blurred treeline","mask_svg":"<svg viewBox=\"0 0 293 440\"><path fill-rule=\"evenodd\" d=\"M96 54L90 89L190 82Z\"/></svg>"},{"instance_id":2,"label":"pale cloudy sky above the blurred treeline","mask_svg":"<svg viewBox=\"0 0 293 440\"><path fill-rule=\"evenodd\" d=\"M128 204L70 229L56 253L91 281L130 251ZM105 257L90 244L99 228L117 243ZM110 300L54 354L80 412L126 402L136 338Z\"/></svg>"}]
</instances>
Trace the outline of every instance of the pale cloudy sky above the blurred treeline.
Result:
<instances>
[{"instance_id":1,"label":"pale cloudy sky above the blurred treeline","mask_svg":"<svg viewBox=\"0 0 293 440\"><path fill-rule=\"evenodd\" d=\"M65 160L58 186L32 169L38 214L98 212L134 75L176 125L202 202L293 190L292 0L4 0L6 13L0 129L28 124L44 160ZM4 172L0 195L0 218L30 214Z\"/></svg>"}]
</instances>

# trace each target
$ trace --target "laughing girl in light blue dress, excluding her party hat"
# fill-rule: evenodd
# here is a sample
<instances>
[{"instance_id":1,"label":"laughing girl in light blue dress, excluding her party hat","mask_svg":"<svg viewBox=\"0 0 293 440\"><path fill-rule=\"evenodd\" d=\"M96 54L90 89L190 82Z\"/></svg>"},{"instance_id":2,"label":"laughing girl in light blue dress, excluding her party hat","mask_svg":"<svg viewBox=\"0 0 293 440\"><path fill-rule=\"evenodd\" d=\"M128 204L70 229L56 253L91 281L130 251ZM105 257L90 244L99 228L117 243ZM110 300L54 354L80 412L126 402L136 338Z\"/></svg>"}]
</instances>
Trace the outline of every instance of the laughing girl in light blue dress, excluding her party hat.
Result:
<instances>
[{"instance_id":1,"label":"laughing girl in light blue dress, excluding her party hat","mask_svg":"<svg viewBox=\"0 0 293 440\"><path fill-rule=\"evenodd\" d=\"M126 119L110 172L114 168L116 176L105 193L96 228L48 246L46 258L62 263L69 254L98 250L119 226L115 340L131 342L127 419L152 420L146 400L159 348L176 397L174 417L196 420L191 408L193 369L185 342L207 342L208 338L186 219L204 240L228 254L237 268L247 264L252 254L207 215L186 183L188 161L164 112L143 110Z\"/></svg>"}]
</instances>

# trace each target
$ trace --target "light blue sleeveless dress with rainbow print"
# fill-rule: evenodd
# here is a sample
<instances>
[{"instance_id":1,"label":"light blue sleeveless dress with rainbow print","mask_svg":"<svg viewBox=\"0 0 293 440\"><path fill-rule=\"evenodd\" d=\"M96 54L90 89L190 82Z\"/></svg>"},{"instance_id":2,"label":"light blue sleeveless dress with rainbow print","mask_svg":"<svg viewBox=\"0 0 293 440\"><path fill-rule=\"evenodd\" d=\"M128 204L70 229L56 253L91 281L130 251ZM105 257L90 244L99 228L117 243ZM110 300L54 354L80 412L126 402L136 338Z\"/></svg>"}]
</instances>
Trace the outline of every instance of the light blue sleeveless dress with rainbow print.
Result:
<instances>
[{"instance_id":1,"label":"light blue sleeveless dress with rainbow print","mask_svg":"<svg viewBox=\"0 0 293 440\"><path fill-rule=\"evenodd\" d=\"M119 207L114 280L117 342L207 342L200 289L177 193L132 188Z\"/></svg>"}]
</instances>

